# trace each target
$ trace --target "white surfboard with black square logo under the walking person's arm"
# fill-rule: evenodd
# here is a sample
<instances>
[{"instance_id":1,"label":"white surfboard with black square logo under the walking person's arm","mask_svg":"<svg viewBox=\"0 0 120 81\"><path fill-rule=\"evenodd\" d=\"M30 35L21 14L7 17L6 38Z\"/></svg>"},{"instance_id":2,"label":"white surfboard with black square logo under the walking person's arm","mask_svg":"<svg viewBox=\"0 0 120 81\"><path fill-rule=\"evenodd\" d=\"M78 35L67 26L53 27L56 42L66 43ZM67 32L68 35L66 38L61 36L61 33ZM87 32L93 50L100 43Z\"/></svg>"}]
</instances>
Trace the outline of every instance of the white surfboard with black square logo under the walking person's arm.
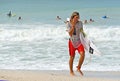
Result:
<instances>
[{"instance_id":1,"label":"white surfboard with black square logo under the walking person's arm","mask_svg":"<svg viewBox=\"0 0 120 81\"><path fill-rule=\"evenodd\" d=\"M82 32L80 32L80 40L85 50L90 54L101 55L101 52L97 49L95 44L90 39L88 39L87 36L84 36Z\"/></svg>"}]
</instances>

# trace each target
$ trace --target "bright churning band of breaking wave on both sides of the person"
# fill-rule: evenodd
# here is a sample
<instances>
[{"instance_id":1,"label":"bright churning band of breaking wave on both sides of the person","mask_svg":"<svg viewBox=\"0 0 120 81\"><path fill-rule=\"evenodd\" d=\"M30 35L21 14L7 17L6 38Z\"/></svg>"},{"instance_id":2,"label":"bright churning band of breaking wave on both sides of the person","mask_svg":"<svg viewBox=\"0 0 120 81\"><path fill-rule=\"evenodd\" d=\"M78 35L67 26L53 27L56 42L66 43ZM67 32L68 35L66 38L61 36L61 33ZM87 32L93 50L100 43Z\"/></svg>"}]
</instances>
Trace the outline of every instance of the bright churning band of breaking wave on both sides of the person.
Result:
<instances>
[{"instance_id":1,"label":"bright churning band of breaking wave on both sides of the person","mask_svg":"<svg viewBox=\"0 0 120 81\"><path fill-rule=\"evenodd\" d=\"M65 25L0 25L0 40L31 41L44 38L64 38L68 34ZM15 26L15 28L14 28ZM21 27L21 28L20 28ZM16 29L17 28L17 29ZM25 28L25 29L23 29ZM95 41L120 41L120 27L85 26L87 35Z\"/></svg>"}]
</instances>

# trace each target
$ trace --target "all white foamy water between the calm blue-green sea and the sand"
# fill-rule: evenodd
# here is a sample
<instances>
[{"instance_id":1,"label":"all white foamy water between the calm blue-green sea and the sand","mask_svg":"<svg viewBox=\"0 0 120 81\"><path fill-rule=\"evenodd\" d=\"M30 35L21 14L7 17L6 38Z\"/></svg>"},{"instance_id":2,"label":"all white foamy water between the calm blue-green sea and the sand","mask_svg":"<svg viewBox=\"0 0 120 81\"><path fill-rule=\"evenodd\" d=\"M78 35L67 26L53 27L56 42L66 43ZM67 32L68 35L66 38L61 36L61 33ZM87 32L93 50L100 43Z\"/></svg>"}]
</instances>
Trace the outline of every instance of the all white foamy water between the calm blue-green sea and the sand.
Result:
<instances>
[{"instance_id":1,"label":"all white foamy water between the calm blue-green sea and the sand","mask_svg":"<svg viewBox=\"0 0 120 81\"><path fill-rule=\"evenodd\" d=\"M93 55L92 61L83 65L83 70L120 71L120 27L84 27L102 56ZM65 25L0 24L0 68L68 70L68 38ZM78 57L77 54L74 66L77 65ZM85 63L89 58L86 52Z\"/></svg>"}]
</instances>

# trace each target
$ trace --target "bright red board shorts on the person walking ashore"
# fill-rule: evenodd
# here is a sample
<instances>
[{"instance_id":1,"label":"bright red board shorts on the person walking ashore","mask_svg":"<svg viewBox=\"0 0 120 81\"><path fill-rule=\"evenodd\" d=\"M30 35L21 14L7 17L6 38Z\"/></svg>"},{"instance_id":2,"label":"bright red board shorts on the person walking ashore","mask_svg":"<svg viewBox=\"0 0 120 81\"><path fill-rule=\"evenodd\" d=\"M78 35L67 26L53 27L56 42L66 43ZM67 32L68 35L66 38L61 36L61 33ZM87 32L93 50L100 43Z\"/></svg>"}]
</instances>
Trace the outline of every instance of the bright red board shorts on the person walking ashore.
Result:
<instances>
[{"instance_id":1,"label":"bright red board shorts on the person walking ashore","mask_svg":"<svg viewBox=\"0 0 120 81\"><path fill-rule=\"evenodd\" d=\"M74 48L74 46L72 45L71 40L69 40L69 55L70 56L75 56L75 51L78 50L79 54L80 52L84 52L84 47L81 44L78 48Z\"/></svg>"}]
</instances>

